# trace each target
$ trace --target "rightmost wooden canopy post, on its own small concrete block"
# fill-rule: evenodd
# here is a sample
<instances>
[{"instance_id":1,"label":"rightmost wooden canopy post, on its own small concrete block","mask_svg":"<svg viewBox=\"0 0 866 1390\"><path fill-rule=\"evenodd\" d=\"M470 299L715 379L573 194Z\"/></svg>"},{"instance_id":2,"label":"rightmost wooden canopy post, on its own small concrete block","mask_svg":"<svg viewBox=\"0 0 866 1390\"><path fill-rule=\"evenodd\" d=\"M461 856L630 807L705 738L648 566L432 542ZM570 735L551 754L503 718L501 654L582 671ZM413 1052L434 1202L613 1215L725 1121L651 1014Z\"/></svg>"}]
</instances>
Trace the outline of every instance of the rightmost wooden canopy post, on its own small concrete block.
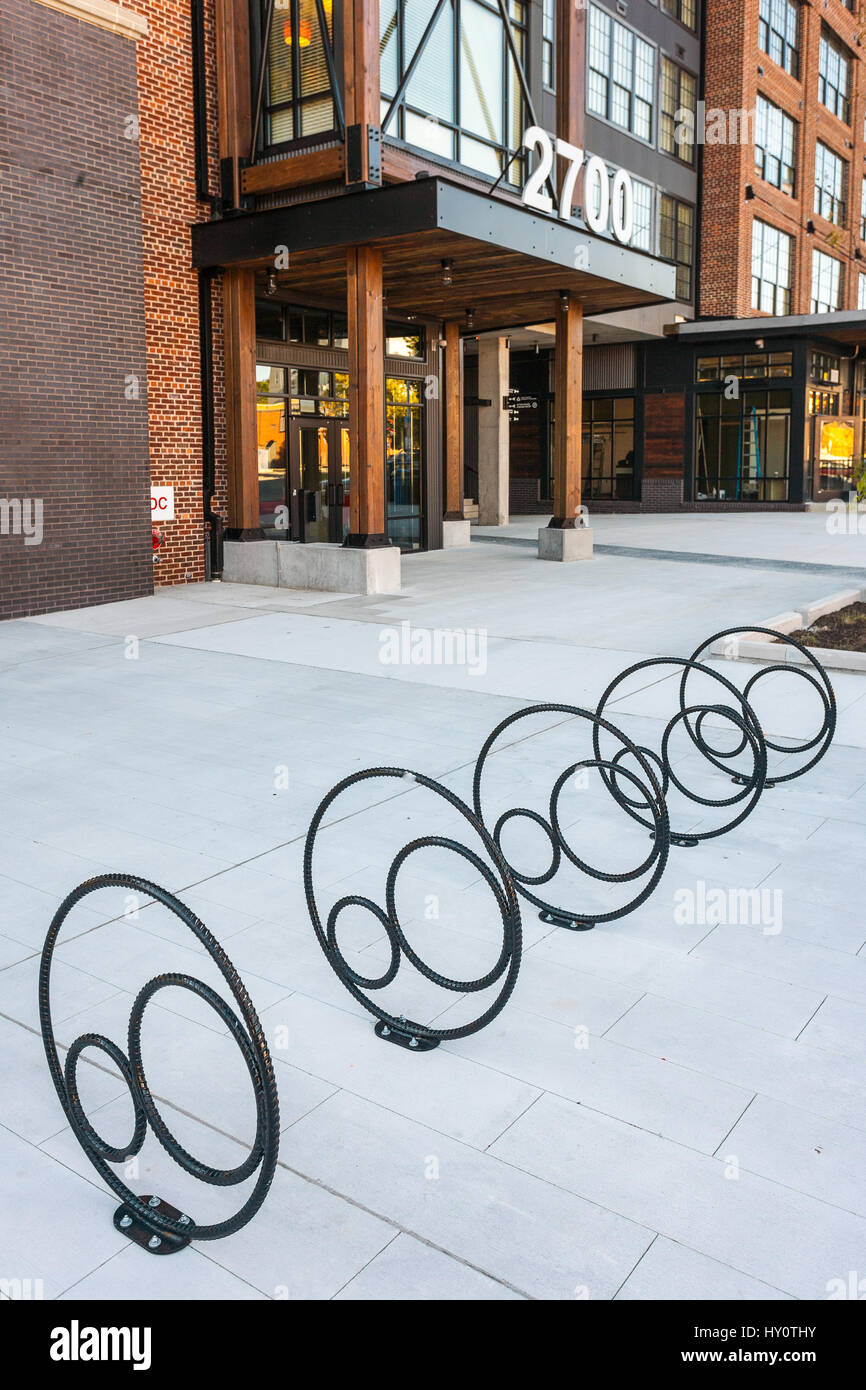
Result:
<instances>
[{"instance_id":1,"label":"rightmost wooden canopy post, on its own small concrete block","mask_svg":"<svg viewBox=\"0 0 866 1390\"><path fill-rule=\"evenodd\" d=\"M581 505L581 431L584 388L584 306L566 296L556 309L553 361L553 516L552 527L578 524Z\"/></svg>"}]
</instances>

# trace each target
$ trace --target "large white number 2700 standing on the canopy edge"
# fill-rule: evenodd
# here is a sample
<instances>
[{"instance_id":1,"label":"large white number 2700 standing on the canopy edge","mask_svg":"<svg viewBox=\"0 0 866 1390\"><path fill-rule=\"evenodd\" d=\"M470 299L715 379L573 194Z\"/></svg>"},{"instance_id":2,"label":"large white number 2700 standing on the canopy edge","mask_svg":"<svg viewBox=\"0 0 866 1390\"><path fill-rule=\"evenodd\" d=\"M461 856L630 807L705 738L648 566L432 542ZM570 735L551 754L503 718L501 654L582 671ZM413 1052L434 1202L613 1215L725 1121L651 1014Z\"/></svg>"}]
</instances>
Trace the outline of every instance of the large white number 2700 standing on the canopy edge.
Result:
<instances>
[{"instance_id":1,"label":"large white number 2700 standing on the canopy edge","mask_svg":"<svg viewBox=\"0 0 866 1390\"><path fill-rule=\"evenodd\" d=\"M557 215L566 222L571 218L574 203L574 189L577 175L584 163L585 152L569 140L556 139L553 142L541 125L530 125L523 133L523 146L527 150L538 150L539 160L537 168L530 174L523 190L523 202L527 207L537 207L539 213L553 211L553 199L545 193L545 183L553 170L553 154L567 160L567 170L559 189ZM598 154L591 154L584 170L584 221L591 232L606 232L610 229L617 242L628 245L634 231L634 185L627 170L614 170L607 174L607 165Z\"/></svg>"}]
</instances>

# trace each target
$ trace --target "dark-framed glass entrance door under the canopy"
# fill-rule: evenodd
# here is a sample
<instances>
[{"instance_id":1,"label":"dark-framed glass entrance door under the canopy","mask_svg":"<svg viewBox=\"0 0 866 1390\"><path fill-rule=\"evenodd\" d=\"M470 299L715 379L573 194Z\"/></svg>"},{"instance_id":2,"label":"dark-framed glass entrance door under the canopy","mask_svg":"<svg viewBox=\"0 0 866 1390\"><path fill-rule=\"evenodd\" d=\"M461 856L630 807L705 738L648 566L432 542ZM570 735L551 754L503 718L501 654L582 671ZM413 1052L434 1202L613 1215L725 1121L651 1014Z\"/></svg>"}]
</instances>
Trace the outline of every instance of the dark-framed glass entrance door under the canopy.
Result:
<instances>
[{"instance_id":1,"label":"dark-framed glass entrance door under the canopy","mask_svg":"<svg viewBox=\"0 0 866 1390\"><path fill-rule=\"evenodd\" d=\"M342 543L349 532L349 427L345 420L289 425L292 539Z\"/></svg>"}]
</instances>

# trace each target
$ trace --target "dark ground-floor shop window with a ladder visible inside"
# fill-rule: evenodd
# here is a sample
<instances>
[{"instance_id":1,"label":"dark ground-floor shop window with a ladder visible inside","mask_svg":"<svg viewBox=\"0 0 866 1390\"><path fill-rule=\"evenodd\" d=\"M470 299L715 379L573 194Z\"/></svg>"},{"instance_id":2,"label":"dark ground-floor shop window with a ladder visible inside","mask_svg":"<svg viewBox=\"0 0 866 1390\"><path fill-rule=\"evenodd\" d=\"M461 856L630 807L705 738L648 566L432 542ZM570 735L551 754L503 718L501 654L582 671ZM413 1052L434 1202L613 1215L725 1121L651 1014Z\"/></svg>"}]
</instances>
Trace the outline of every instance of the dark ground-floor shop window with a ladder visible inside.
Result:
<instances>
[{"instance_id":1,"label":"dark ground-floor shop window with a ladder visible inside","mask_svg":"<svg viewBox=\"0 0 866 1390\"><path fill-rule=\"evenodd\" d=\"M791 392L696 395L698 502L785 502L791 453Z\"/></svg>"}]
</instances>

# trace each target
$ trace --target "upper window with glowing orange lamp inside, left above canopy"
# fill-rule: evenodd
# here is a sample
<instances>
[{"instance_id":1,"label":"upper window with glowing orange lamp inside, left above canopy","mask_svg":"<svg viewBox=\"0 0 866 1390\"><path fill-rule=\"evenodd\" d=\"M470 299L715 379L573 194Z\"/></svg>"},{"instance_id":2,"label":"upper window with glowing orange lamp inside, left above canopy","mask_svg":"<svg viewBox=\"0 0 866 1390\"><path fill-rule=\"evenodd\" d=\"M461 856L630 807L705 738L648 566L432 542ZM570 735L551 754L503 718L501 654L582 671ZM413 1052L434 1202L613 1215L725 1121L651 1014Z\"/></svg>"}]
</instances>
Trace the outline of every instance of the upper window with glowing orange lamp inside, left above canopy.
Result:
<instances>
[{"instance_id":1,"label":"upper window with glowing orange lamp inside, left above canopy","mask_svg":"<svg viewBox=\"0 0 866 1390\"><path fill-rule=\"evenodd\" d=\"M261 13L264 14L264 6ZM328 43L334 18L322 7ZM284 0L274 10L264 90L264 143L282 145L335 128L334 100L316 0Z\"/></svg>"}]
</instances>

